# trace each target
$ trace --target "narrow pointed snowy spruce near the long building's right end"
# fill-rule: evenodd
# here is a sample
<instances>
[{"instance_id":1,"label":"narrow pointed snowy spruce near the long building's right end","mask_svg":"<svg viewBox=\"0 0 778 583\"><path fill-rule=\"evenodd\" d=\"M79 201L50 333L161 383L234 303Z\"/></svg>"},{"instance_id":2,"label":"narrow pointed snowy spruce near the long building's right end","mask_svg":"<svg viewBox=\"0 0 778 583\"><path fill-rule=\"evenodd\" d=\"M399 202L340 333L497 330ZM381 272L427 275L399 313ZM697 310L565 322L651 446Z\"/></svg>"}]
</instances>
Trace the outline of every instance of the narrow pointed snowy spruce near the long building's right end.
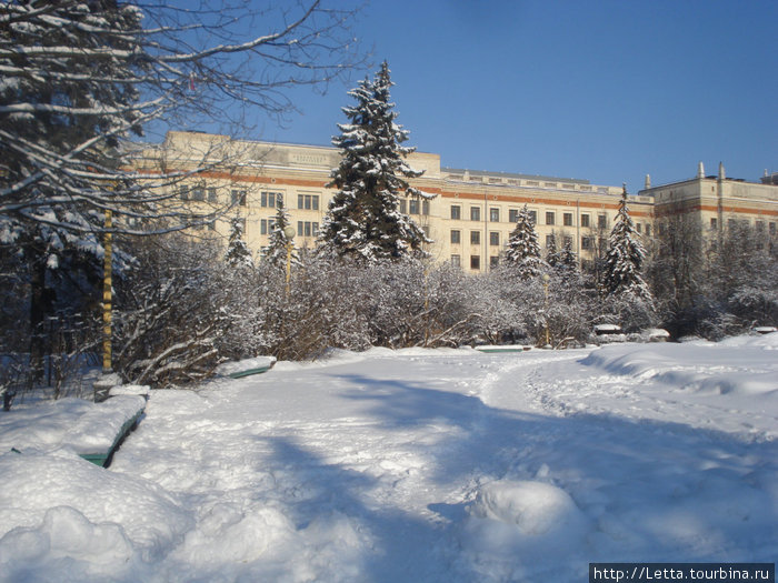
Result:
<instances>
[{"instance_id":1,"label":"narrow pointed snowy spruce near the long building's right end","mask_svg":"<svg viewBox=\"0 0 778 583\"><path fill-rule=\"evenodd\" d=\"M608 239L602 274L605 293L607 295L631 294L638 299L650 300L651 293L640 273L645 259L646 251L638 239L635 223L627 208L625 187L616 224Z\"/></svg>"}]
</instances>

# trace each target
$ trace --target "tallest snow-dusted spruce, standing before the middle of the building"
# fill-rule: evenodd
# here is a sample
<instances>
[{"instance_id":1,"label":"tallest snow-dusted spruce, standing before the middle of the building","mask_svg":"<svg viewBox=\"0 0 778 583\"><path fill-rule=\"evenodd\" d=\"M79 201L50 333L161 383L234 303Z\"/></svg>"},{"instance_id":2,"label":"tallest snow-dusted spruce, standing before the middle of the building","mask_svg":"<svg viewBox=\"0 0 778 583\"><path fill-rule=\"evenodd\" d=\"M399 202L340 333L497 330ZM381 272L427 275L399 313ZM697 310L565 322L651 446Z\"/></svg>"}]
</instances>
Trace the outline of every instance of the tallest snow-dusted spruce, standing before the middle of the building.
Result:
<instances>
[{"instance_id":1,"label":"tallest snow-dusted spruce, standing before the middle of the building","mask_svg":"<svg viewBox=\"0 0 778 583\"><path fill-rule=\"evenodd\" d=\"M421 228L399 210L402 191L411 197L432 197L405 180L422 172L405 161L415 148L400 145L409 132L395 123L391 86L385 61L372 81L366 78L349 91L357 104L343 108L349 123L338 124L341 133L332 139L342 160L331 174L329 185L338 192L319 235L319 248L326 254L372 263L420 254L422 243L430 242Z\"/></svg>"}]
</instances>

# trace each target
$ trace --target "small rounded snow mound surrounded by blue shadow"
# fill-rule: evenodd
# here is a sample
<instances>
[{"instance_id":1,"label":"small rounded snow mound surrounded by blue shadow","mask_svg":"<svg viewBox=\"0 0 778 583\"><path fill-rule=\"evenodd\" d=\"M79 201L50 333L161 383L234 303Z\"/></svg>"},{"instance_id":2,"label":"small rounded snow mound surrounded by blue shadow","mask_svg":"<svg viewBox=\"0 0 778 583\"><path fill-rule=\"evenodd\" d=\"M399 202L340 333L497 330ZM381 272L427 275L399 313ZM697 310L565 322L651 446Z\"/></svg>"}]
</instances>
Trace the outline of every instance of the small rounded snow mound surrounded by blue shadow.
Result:
<instances>
[{"instance_id":1,"label":"small rounded snow mound surrounded by blue shadow","mask_svg":"<svg viewBox=\"0 0 778 583\"><path fill-rule=\"evenodd\" d=\"M568 530L582 521L570 495L543 482L491 482L478 492L470 513L516 525L532 536Z\"/></svg>"}]
</instances>

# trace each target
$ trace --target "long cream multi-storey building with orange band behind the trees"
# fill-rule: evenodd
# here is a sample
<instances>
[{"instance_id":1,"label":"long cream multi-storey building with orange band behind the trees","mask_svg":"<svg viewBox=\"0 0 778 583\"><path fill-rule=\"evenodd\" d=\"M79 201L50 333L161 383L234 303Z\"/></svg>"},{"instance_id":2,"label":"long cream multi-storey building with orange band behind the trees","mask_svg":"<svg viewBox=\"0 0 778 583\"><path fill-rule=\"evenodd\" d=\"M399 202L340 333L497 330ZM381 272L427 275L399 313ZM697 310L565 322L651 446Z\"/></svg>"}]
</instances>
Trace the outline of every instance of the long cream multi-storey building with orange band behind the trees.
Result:
<instances>
[{"instance_id":1,"label":"long cream multi-storey building with orange band behind the trees","mask_svg":"<svg viewBox=\"0 0 778 583\"><path fill-rule=\"evenodd\" d=\"M178 199L198 205L233 205L226 215L203 227L200 235L226 239L229 222L238 218L245 223L246 242L259 257L268 245L281 205L297 230L295 244L316 245L335 194L327 183L339 159L335 148L170 132L159 147L142 150L136 163L151 173L162 168L168 172L205 169L174 187ZM592 261L605 250L622 193L621 187L597 185L588 180L446 168L435 153L416 152L408 162L425 171L411 180L413 187L436 197L403 198L401 210L432 239L427 251L435 261L450 262L472 273L499 263L517 213L525 205L536 219L543 249L551 237L557 247L569 240L582 263ZM710 200L708 187L714 188ZM751 187L757 189L754 195ZM638 231L647 238L654 234L657 213L679 209L698 212L706 221L710 214L719 227L735 217L762 221L772 232L778 188L698 177L630 195L629 209Z\"/></svg>"}]
</instances>

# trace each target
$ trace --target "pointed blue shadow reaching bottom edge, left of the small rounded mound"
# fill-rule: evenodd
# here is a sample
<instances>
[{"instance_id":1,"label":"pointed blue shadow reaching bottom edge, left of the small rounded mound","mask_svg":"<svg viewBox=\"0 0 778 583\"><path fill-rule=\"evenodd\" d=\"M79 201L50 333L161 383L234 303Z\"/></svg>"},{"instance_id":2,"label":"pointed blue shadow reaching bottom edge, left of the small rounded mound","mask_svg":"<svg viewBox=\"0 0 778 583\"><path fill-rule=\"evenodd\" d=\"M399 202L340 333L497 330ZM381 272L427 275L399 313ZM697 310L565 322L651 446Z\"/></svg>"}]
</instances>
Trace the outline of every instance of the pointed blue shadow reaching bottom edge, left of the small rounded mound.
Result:
<instances>
[{"instance_id":1,"label":"pointed blue shadow reaching bottom edge, left of the small rounded mound","mask_svg":"<svg viewBox=\"0 0 778 583\"><path fill-rule=\"evenodd\" d=\"M441 570L452 557L445 556L450 545L438 544L446 537L439 526L400 507L370 503L367 494L377 479L328 463L295 439L257 439L270 445L269 468L277 479L277 494L282 496L283 512L295 522L301 544L330 555L322 561L318 580L348 580L350 571L358 573L356 580L387 583L478 579L467 566L455 574ZM307 529L319 534L307 533Z\"/></svg>"}]
</instances>

